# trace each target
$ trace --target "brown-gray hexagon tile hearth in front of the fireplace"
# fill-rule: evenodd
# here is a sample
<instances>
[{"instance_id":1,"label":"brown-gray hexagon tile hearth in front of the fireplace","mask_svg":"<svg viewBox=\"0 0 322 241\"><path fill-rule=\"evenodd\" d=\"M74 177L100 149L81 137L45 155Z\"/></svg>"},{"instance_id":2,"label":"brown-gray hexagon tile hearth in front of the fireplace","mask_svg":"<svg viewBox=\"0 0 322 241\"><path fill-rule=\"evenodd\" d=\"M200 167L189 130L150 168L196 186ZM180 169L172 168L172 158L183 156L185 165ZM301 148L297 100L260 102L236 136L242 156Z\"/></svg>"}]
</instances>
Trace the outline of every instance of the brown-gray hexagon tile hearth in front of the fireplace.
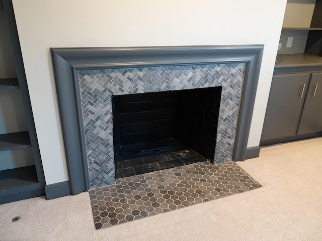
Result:
<instances>
[{"instance_id":1,"label":"brown-gray hexagon tile hearth in front of the fireplace","mask_svg":"<svg viewBox=\"0 0 322 241\"><path fill-rule=\"evenodd\" d=\"M199 162L124 177L89 191L96 229L261 187L234 162Z\"/></svg>"}]
</instances>

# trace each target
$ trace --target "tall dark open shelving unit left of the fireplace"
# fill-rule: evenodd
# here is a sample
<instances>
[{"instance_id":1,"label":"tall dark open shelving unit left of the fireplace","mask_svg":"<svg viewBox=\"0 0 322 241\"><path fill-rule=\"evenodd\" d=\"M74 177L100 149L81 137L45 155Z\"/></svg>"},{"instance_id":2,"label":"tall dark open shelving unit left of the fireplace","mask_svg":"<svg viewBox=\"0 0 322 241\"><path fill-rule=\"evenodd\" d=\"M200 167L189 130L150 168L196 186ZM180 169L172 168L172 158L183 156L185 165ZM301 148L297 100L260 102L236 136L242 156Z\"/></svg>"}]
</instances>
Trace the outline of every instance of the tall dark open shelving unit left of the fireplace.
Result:
<instances>
[{"instance_id":1,"label":"tall dark open shelving unit left of the fireplace","mask_svg":"<svg viewBox=\"0 0 322 241\"><path fill-rule=\"evenodd\" d=\"M11 0L0 0L0 204L45 194Z\"/></svg>"}]
</instances>

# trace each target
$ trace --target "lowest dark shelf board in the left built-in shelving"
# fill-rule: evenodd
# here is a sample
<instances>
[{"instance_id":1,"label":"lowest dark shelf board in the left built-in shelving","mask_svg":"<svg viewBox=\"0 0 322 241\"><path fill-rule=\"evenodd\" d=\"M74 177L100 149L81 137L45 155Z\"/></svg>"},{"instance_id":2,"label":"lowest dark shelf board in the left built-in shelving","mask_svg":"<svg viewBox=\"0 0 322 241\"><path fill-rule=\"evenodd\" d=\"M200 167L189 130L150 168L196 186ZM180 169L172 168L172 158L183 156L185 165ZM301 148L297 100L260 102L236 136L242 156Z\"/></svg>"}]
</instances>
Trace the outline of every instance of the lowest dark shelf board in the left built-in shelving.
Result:
<instances>
[{"instance_id":1,"label":"lowest dark shelf board in the left built-in shelving","mask_svg":"<svg viewBox=\"0 0 322 241\"><path fill-rule=\"evenodd\" d=\"M39 188L35 166L0 171L0 196Z\"/></svg>"}]
</instances>

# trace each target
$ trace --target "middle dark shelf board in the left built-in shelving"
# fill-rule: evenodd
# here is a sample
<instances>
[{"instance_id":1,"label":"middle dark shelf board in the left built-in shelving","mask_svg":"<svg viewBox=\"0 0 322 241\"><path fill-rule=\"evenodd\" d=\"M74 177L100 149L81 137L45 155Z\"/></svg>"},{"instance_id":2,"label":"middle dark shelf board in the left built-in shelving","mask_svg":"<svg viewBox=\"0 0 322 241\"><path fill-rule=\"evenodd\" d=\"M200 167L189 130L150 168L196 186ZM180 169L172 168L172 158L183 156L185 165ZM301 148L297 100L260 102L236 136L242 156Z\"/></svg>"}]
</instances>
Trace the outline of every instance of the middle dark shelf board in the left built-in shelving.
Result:
<instances>
[{"instance_id":1,"label":"middle dark shelf board in the left built-in shelving","mask_svg":"<svg viewBox=\"0 0 322 241\"><path fill-rule=\"evenodd\" d=\"M16 132L0 135L0 151L31 147L28 132Z\"/></svg>"}]
</instances>

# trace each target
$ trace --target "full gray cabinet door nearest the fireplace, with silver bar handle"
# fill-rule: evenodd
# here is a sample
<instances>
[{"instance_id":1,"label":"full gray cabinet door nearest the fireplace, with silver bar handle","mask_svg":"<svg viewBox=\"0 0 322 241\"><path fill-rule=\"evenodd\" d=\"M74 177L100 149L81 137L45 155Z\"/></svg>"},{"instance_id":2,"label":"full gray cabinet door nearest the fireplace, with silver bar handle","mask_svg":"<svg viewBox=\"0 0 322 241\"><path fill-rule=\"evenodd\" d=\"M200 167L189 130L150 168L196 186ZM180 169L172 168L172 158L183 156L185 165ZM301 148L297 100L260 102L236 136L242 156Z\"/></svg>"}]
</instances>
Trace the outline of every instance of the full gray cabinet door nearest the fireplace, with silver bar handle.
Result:
<instances>
[{"instance_id":1,"label":"full gray cabinet door nearest the fireplace, with silver bar handle","mask_svg":"<svg viewBox=\"0 0 322 241\"><path fill-rule=\"evenodd\" d=\"M310 73L273 76L261 142L296 135L309 77Z\"/></svg>"}]
</instances>

